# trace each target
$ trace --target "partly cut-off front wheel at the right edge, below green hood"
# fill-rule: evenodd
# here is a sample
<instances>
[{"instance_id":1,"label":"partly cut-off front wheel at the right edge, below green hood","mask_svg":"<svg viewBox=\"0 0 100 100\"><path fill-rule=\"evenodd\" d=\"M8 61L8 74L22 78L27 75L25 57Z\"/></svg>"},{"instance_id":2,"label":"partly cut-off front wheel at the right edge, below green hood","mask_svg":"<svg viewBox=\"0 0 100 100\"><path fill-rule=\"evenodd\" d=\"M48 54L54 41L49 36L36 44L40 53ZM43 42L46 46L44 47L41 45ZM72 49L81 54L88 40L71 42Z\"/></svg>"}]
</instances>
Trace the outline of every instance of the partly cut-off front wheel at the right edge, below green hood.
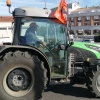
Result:
<instances>
[{"instance_id":1,"label":"partly cut-off front wheel at the right edge, below green hood","mask_svg":"<svg viewBox=\"0 0 100 100\"><path fill-rule=\"evenodd\" d=\"M95 97L100 97L100 68L90 68L86 73L86 86Z\"/></svg>"}]
</instances>

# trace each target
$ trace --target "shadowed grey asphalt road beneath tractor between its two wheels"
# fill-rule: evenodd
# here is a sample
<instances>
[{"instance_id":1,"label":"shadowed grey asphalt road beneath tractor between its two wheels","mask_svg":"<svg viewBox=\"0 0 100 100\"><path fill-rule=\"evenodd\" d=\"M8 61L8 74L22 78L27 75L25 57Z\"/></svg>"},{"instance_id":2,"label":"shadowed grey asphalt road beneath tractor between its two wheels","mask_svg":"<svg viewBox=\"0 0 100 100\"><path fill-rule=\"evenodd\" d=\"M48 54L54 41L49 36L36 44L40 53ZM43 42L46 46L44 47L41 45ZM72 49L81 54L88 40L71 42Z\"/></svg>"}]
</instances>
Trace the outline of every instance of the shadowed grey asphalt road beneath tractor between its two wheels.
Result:
<instances>
[{"instance_id":1,"label":"shadowed grey asphalt road beneath tractor between its two wheels","mask_svg":"<svg viewBox=\"0 0 100 100\"><path fill-rule=\"evenodd\" d=\"M100 100L93 98L83 83L51 84L40 100Z\"/></svg>"}]
</instances>

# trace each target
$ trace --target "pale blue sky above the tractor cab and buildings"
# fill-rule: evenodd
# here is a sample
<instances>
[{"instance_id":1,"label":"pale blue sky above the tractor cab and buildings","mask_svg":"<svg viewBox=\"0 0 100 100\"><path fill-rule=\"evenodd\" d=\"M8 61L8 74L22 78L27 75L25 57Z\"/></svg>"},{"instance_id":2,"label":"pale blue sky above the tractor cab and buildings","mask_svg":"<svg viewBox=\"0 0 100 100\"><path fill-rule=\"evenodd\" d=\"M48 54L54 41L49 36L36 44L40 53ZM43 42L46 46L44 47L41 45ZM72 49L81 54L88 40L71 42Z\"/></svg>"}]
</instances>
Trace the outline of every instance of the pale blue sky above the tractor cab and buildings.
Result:
<instances>
[{"instance_id":1,"label":"pale blue sky above the tractor cab and buildings","mask_svg":"<svg viewBox=\"0 0 100 100\"><path fill-rule=\"evenodd\" d=\"M14 8L23 6L44 8L45 1L46 1L46 7L50 9L53 7L57 7L60 2L60 0L10 0L10 1L11 1L11 11L13 11ZM99 6L100 4L100 0L66 0L67 3L72 3L75 1L79 2L81 7L86 7L86 5L88 7ZM0 0L0 16L10 16L8 7L6 6L6 0Z\"/></svg>"}]
</instances>

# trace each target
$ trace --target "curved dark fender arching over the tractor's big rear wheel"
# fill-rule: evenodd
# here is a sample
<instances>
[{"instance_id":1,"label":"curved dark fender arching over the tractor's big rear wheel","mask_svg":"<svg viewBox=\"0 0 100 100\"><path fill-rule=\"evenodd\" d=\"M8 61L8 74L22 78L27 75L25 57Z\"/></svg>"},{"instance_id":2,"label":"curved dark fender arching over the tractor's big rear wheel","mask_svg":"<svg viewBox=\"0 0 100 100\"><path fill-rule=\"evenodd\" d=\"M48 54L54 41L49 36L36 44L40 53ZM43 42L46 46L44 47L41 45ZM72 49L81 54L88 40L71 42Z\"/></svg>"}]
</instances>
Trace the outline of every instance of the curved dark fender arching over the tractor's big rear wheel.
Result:
<instances>
[{"instance_id":1,"label":"curved dark fender arching over the tractor's big rear wheel","mask_svg":"<svg viewBox=\"0 0 100 100\"><path fill-rule=\"evenodd\" d=\"M49 60L44 53L42 53L39 49L37 49L35 47L21 46L21 45L3 45L3 46L0 46L0 56L5 55L5 53L7 53L9 51L14 52L16 50L21 50L23 52L28 51L28 52L31 52L33 55L38 56L39 59L44 62L44 67L47 69L47 76L49 78L49 81L51 80L51 78L50 78L51 68L50 68Z\"/></svg>"}]
</instances>

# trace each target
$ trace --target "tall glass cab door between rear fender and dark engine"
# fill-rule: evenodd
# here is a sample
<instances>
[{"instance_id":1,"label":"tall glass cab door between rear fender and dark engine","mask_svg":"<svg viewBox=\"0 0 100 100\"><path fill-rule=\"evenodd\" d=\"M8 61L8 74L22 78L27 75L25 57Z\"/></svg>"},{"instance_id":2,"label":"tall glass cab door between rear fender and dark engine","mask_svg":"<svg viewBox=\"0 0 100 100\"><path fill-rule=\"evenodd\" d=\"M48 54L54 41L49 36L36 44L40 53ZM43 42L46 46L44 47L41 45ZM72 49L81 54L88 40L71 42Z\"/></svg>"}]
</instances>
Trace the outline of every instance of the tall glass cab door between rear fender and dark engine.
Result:
<instances>
[{"instance_id":1,"label":"tall glass cab door between rear fender and dark engine","mask_svg":"<svg viewBox=\"0 0 100 100\"><path fill-rule=\"evenodd\" d=\"M67 51L60 50L59 45L66 44L66 34L62 25L52 24L48 27L47 55L51 66L51 77L66 77L67 70Z\"/></svg>"}]
</instances>

